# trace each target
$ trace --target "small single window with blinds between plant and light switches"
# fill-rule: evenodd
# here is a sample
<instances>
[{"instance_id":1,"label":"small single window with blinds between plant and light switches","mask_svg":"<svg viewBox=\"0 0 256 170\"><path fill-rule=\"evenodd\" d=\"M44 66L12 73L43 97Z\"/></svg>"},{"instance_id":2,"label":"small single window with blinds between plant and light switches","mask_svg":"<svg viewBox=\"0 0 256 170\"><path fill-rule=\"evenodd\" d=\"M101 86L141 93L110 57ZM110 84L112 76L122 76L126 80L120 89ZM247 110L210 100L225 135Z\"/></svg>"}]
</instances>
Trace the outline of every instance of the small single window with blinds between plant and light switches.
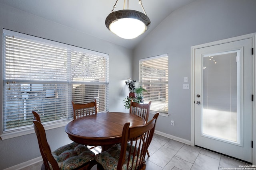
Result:
<instances>
[{"instance_id":1,"label":"small single window with blinds between plant and light switches","mask_svg":"<svg viewBox=\"0 0 256 170\"><path fill-rule=\"evenodd\" d=\"M168 55L140 59L140 85L148 93L144 100L151 101L150 111L168 114Z\"/></svg>"}]
</instances>

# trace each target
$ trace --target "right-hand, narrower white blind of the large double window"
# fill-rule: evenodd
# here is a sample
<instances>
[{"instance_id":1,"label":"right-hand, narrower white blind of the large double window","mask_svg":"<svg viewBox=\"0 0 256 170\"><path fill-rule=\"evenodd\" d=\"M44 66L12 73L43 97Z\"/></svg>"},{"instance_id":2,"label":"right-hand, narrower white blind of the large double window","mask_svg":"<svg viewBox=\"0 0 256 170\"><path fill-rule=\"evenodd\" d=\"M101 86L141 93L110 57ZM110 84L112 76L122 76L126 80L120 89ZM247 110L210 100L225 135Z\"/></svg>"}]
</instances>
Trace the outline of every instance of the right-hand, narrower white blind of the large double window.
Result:
<instances>
[{"instance_id":1,"label":"right-hand, narrower white blind of the large double window","mask_svg":"<svg viewBox=\"0 0 256 170\"><path fill-rule=\"evenodd\" d=\"M108 110L108 58L71 51L72 101L97 101L97 111Z\"/></svg>"}]
</instances>

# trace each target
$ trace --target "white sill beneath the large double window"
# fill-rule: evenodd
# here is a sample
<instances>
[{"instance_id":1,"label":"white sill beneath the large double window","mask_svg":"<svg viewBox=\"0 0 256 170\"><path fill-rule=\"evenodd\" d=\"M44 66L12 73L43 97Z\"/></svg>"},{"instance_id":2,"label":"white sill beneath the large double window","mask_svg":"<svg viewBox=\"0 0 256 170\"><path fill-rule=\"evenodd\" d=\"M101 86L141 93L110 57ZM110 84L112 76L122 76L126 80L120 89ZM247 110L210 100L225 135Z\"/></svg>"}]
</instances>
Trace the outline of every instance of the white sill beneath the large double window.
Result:
<instances>
[{"instance_id":1,"label":"white sill beneath the large double window","mask_svg":"<svg viewBox=\"0 0 256 170\"><path fill-rule=\"evenodd\" d=\"M58 127L66 126L72 120L73 119L68 119L68 120L65 120L65 121L60 121L58 123L56 123L56 122L48 123L48 124L46 123L46 124L43 124L43 125L44 125L45 130L50 130L50 129L55 129L55 128L58 128ZM32 134L32 133L35 133L33 126L28 128L28 129L23 129L23 130L19 130L19 131L6 132L6 133L3 133L2 135L0 135L0 137L1 137L2 140L5 140L5 139L20 137L20 136L24 136L24 135L28 135L28 134Z\"/></svg>"}]
</instances>

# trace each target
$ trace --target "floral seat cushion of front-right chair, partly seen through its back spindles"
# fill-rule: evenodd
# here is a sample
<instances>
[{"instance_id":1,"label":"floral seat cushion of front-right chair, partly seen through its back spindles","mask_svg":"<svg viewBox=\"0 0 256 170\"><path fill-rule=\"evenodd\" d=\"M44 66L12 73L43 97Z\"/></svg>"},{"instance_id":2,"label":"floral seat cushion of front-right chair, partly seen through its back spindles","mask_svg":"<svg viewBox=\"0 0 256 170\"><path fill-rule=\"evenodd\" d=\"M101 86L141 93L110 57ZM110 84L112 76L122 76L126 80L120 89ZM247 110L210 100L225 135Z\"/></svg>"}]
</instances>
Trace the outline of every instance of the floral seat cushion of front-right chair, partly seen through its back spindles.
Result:
<instances>
[{"instance_id":1,"label":"floral seat cushion of front-right chair, partly seen through its back spindles","mask_svg":"<svg viewBox=\"0 0 256 170\"><path fill-rule=\"evenodd\" d=\"M134 152L134 148L135 147L132 146L132 153ZM132 156L130 158L129 167L127 168L129 149L130 149L130 144L127 143L126 157L125 157L125 160L124 160L124 164L122 166L122 170L131 170ZM111 147L110 149L108 149L104 152L96 154L95 160L99 164L102 165L104 170L116 170L118 160L119 160L119 157L120 157L120 152L121 152L121 145L118 144L118 145L115 145L115 146ZM134 160L134 162L136 162L136 161L137 160ZM132 170L134 170L134 169L137 169L137 168L133 168Z\"/></svg>"}]
</instances>

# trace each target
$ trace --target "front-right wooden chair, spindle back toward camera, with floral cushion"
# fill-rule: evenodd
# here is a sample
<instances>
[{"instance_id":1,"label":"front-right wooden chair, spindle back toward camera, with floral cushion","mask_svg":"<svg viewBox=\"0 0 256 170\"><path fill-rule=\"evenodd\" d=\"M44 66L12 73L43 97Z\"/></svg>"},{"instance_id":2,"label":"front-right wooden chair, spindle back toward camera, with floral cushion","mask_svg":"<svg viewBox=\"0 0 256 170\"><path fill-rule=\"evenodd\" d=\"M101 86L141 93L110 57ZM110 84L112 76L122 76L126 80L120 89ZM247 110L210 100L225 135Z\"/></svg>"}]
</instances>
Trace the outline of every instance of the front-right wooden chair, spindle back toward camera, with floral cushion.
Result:
<instances>
[{"instance_id":1,"label":"front-right wooden chair, spindle back toward camera, with floral cushion","mask_svg":"<svg viewBox=\"0 0 256 170\"><path fill-rule=\"evenodd\" d=\"M156 126L156 113L145 125L129 127L126 123L122 131L122 143L96 154L98 170L145 170L146 150L148 149Z\"/></svg>"}]
</instances>

